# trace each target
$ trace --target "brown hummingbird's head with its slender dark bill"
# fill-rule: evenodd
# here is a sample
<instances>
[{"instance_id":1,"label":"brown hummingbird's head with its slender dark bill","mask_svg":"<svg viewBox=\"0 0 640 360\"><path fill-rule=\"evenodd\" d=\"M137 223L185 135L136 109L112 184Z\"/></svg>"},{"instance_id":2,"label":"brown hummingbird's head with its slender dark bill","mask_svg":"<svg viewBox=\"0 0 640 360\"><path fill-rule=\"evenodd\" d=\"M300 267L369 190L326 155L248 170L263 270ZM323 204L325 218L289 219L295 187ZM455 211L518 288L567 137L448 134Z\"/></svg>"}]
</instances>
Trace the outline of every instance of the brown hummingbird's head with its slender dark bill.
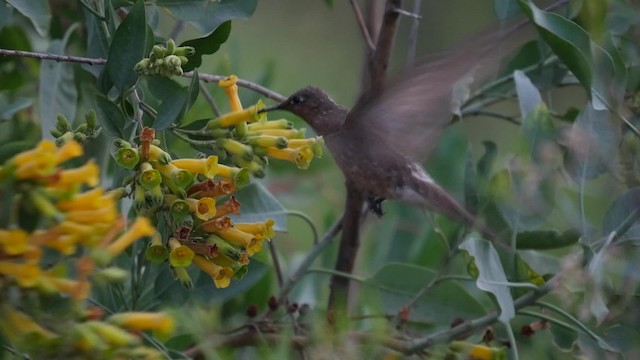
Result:
<instances>
[{"instance_id":1,"label":"brown hummingbird's head with its slender dark bill","mask_svg":"<svg viewBox=\"0 0 640 360\"><path fill-rule=\"evenodd\" d=\"M319 135L340 129L347 111L336 104L324 91L308 86L302 88L280 104L264 111L285 110L302 118Z\"/></svg>"}]
</instances>

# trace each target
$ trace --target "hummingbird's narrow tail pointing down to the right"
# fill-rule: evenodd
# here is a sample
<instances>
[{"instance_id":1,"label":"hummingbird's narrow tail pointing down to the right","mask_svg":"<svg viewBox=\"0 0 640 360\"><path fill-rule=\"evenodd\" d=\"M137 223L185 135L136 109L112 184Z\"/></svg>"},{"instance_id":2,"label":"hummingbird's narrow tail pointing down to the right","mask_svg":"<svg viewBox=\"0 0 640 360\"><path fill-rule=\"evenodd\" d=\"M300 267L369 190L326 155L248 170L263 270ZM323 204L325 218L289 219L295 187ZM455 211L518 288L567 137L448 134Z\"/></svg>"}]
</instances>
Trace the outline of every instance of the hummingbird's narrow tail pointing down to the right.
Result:
<instances>
[{"instance_id":1,"label":"hummingbird's narrow tail pointing down to the right","mask_svg":"<svg viewBox=\"0 0 640 360\"><path fill-rule=\"evenodd\" d=\"M466 226L480 232L489 240L495 239L496 234L478 218L467 211L456 199L447 193L420 166L412 167L412 181L408 182L401 191L399 200L417 205L430 211L435 211L451 220L459 221Z\"/></svg>"}]
</instances>

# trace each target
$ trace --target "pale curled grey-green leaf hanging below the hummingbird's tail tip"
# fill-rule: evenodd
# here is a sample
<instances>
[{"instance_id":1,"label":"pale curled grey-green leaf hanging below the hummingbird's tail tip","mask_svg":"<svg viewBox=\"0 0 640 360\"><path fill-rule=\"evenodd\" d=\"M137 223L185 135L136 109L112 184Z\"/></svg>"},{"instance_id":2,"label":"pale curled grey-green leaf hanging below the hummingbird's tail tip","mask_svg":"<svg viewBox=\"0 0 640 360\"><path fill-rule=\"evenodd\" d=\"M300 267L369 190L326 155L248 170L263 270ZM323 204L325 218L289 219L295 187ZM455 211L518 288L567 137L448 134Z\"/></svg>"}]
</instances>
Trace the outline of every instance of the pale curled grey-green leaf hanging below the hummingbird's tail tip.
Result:
<instances>
[{"instance_id":1,"label":"pale curled grey-green leaf hanging below the hummingbird's tail tip","mask_svg":"<svg viewBox=\"0 0 640 360\"><path fill-rule=\"evenodd\" d=\"M480 290L492 293L500 306L500 321L507 322L515 316L513 298L507 286L500 257L491 242L477 237L469 237L460 245L475 259L479 274L476 285Z\"/></svg>"}]
</instances>

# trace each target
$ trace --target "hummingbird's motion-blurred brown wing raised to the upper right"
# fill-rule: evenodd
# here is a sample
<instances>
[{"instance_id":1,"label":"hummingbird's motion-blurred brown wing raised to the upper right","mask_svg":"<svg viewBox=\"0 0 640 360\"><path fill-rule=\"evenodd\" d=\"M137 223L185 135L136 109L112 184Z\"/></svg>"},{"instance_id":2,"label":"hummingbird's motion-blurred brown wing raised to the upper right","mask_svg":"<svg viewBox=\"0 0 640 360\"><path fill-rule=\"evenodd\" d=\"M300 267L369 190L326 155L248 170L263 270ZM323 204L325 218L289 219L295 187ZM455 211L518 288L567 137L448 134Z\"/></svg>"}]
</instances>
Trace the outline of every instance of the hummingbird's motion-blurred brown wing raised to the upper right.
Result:
<instances>
[{"instance_id":1,"label":"hummingbird's motion-blurred brown wing raised to the upper right","mask_svg":"<svg viewBox=\"0 0 640 360\"><path fill-rule=\"evenodd\" d=\"M343 132L363 141L364 149L393 147L422 160L452 119L454 89L464 90L474 78L497 71L499 60L520 43L506 36L484 32L407 71L379 95L363 95L347 116Z\"/></svg>"}]
</instances>

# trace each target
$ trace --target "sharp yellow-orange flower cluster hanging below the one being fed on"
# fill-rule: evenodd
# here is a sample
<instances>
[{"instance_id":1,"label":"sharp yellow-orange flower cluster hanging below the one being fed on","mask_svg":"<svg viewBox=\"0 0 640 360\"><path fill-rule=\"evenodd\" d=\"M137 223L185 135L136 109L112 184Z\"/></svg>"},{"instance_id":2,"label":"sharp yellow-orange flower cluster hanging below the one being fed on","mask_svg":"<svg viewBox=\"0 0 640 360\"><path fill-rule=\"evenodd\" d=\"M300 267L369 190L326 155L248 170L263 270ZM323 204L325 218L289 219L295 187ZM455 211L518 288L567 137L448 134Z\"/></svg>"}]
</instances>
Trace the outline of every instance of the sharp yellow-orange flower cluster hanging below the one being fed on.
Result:
<instances>
[{"instance_id":1,"label":"sharp yellow-orange flower cluster hanging below the one being fed on","mask_svg":"<svg viewBox=\"0 0 640 360\"><path fill-rule=\"evenodd\" d=\"M186 269L192 264L209 274L218 288L247 271L249 257L274 236L273 220L234 224L240 203L230 196L249 181L249 170L227 166L215 155L175 159L162 150L153 129L144 128L135 147L117 140L116 162L134 170L131 193L139 214L170 223L167 234L155 234L146 252L155 263L167 259L175 277L192 286ZM223 199L224 198L224 199ZM221 201L223 199L224 201Z\"/></svg>"}]
</instances>

